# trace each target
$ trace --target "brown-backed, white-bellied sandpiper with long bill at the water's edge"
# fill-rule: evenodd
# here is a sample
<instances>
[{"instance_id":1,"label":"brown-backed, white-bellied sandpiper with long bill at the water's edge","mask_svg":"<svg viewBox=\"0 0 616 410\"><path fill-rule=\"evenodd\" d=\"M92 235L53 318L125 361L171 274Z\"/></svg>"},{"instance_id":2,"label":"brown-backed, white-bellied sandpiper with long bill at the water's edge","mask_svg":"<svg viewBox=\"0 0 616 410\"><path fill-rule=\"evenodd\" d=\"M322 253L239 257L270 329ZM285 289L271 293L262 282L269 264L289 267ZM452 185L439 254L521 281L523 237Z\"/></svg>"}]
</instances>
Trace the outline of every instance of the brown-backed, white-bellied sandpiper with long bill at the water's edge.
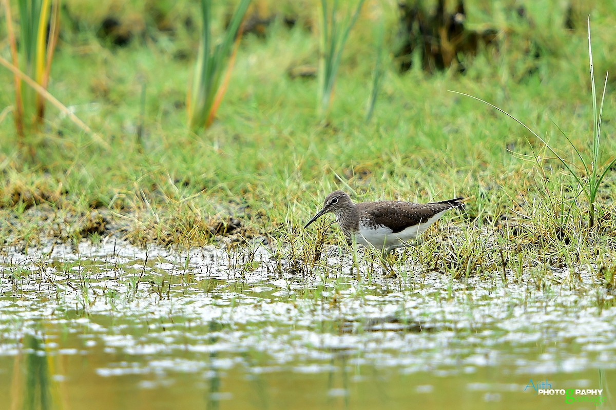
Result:
<instances>
[{"instance_id":1,"label":"brown-backed, white-bellied sandpiper with long bill at the water's edge","mask_svg":"<svg viewBox=\"0 0 616 410\"><path fill-rule=\"evenodd\" d=\"M464 208L463 197L432 203L353 203L346 192L334 191L327 195L323 209L304 228L331 212L336 215L336 222L347 239L389 252L408 246L408 241L416 240L419 234L453 208Z\"/></svg>"}]
</instances>

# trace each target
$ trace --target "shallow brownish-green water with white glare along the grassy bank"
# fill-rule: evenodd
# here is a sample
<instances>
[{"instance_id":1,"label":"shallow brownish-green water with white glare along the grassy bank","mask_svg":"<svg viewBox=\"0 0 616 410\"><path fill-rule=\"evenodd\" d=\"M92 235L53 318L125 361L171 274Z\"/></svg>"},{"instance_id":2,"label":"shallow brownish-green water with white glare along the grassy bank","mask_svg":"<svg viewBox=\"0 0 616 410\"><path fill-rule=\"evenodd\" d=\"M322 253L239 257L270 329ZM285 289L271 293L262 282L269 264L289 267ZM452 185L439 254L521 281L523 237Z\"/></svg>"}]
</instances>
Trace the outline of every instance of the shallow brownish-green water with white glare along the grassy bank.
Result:
<instances>
[{"instance_id":1,"label":"shallow brownish-green water with white glare along the grassy bank","mask_svg":"<svg viewBox=\"0 0 616 410\"><path fill-rule=\"evenodd\" d=\"M348 256L327 260L302 276L258 246L12 251L0 396L91 410L614 408L614 294L585 272L538 286L360 265L358 280Z\"/></svg>"}]
</instances>

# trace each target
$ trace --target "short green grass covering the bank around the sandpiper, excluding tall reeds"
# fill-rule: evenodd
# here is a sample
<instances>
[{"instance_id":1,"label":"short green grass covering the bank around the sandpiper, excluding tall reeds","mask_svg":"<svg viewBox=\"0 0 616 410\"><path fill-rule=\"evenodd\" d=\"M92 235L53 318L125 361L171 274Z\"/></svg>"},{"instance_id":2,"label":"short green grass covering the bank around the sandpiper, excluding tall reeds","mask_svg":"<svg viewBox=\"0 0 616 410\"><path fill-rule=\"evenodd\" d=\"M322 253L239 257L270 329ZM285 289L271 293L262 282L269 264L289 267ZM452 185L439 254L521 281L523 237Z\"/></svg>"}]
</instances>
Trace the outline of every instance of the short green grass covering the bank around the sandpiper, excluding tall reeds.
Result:
<instances>
[{"instance_id":1,"label":"short green grass covering the bank around the sandpiper, excluding tall reeds","mask_svg":"<svg viewBox=\"0 0 616 410\"><path fill-rule=\"evenodd\" d=\"M194 8L185 14L197 13ZM213 12L222 21L224 10ZM616 9L606 1L596 14L594 67L604 72L616 63L606 51L616 46ZM477 11L469 24L490 23L481 17ZM212 126L199 134L188 130L184 106L198 49L196 28L179 25L174 36L152 31L150 37L113 49L95 37L94 26L67 28L49 91L111 148L92 144L65 117L49 112L36 157L23 162L15 151L14 124L6 117L0 123L0 173L6 176L0 179L0 240L87 239L92 230L75 229L75 224L89 221L96 209L107 221L103 236L181 248L222 237L240 246L243 238L264 238L300 269L323 263L315 258L323 243L346 246L337 228L301 229L325 195L342 188L354 200L471 197L466 213L446 216L436 230L426 232L428 242L408 251L424 266L456 277L500 272L503 264L515 270L538 259L583 264L594 261L598 248L610 254L616 232L611 216L616 185L610 172L596 199L599 229L591 231L580 223L588 219L587 207L575 200L575 183L562 164L546 156L540 140L492 109L447 92L460 90L506 107L530 128L546 130L541 135L545 141L556 143L561 136L549 113L573 146L587 153L593 107L583 20L571 33L556 19L538 21L535 28L516 27L502 53L479 53L464 76L428 77L419 69L400 76L384 58L378 108L366 124L375 55L372 43L365 41L372 33L363 24L366 18L360 16L342 55L328 126L314 116L317 81L286 74L297 63L317 65L317 35L275 22L265 39L243 39L225 103ZM395 27L385 30L388 44ZM538 65L532 76L520 74L529 57L515 52L516 33L537 37L543 47L543 57L530 61ZM0 50L3 55L7 51ZM188 61L177 58L180 52L188 52ZM0 71L0 84L4 108L12 104L10 73ZM608 82L606 136L615 131L615 103L614 83ZM601 144L603 164L616 152L616 142L604 138ZM565 160L575 160L573 149L562 149ZM525 160L537 155L543 160ZM563 199L567 207L555 208ZM449 224L463 233L448 239L443 228ZM486 245L487 240L498 246Z\"/></svg>"}]
</instances>

